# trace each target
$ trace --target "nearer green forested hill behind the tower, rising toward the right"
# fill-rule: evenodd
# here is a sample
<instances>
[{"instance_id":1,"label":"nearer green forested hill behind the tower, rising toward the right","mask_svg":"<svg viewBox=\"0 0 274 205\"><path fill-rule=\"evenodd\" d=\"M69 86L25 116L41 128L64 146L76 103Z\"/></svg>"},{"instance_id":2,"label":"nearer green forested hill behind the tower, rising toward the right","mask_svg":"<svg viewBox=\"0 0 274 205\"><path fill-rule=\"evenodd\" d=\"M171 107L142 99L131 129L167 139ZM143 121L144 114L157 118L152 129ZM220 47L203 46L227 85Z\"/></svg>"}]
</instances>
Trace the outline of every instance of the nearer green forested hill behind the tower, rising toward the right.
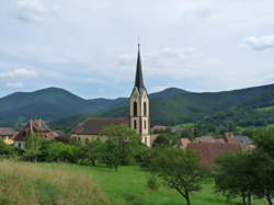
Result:
<instances>
[{"instance_id":1,"label":"nearer green forested hill behind the tower, rising toward the right","mask_svg":"<svg viewBox=\"0 0 274 205\"><path fill-rule=\"evenodd\" d=\"M170 90L168 90L169 92ZM224 92L193 93L181 90L167 95L167 90L150 96L151 124L182 123L239 126L274 124L274 84ZM54 121L53 125L73 126L89 117L125 117L127 105L101 112L80 114Z\"/></svg>"}]
</instances>

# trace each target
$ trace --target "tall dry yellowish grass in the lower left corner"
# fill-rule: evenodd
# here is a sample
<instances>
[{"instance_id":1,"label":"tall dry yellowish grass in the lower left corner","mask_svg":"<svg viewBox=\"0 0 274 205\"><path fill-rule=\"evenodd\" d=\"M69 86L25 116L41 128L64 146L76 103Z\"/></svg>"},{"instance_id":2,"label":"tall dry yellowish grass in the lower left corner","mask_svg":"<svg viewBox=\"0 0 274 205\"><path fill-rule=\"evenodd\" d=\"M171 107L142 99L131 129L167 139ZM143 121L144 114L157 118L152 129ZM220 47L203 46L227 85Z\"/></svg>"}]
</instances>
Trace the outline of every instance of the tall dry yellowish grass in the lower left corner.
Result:
<instances>
[{"instance_id":1,"label":"tall dry yellowish grass in the lower left corner","mask_svg":"<svg viewBox=\"0 0 274 205\"><path fill-rule=\"evenodd\" d=\"M87 175L0 161L0 204L96 205L106 202L105 195Z\"/></svg>"}]
</instances>

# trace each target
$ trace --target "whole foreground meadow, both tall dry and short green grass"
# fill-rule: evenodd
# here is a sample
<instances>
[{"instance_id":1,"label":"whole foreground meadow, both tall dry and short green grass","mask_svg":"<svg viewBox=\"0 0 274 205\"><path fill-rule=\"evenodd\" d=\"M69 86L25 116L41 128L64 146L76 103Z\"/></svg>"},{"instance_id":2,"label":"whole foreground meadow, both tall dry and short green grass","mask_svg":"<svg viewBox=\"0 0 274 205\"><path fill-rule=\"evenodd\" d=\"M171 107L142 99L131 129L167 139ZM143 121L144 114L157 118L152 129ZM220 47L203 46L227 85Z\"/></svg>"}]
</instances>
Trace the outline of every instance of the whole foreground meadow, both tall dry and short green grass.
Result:
<instances>
[{"instance_id":1,"label":"whole foreground meadow, both tall dry and short green grass","mask_svg":"<svg viewBox=\"0 0 274 205\"><path fill-rule=\"evenodd\" d=\"M66 163L0 162L0 204L145 204L183 205L175 191L160 185L147 186L149 172L138 167L122 167L117 172L104 167ZM193 205L238 205L240 198L227 201L206 183L192 195ZM266 204L255 200L254 205Z\"/></svg>"}]
</instances>

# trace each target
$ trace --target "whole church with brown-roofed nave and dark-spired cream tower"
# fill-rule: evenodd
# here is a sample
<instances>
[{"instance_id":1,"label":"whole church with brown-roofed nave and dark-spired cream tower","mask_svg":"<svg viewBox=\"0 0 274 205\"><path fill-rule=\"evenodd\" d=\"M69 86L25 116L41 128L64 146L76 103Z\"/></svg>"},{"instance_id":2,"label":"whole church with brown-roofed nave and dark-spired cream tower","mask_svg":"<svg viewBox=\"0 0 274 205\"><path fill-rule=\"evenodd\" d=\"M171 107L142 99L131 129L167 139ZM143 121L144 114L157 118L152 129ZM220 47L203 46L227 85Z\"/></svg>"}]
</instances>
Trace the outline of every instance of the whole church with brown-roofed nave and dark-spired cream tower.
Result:
<instances>
[{"instance_id":1,"label":"whole church with brown-roofed nave and dark-spired cream tower","mask_svg":"<svg viewBox=\"0 0 274 205\"><path fill-rule=\"evenodd\" d=\"M104 140L101 130L109 125L125 125L141 136L141 141L151 147L149 95L144 83L140 45L138 44L135 84L129 98L129 116L126 118L89 118L78 124L71 132L71 138L82 141Z\"/></svg>"}]
</instances>

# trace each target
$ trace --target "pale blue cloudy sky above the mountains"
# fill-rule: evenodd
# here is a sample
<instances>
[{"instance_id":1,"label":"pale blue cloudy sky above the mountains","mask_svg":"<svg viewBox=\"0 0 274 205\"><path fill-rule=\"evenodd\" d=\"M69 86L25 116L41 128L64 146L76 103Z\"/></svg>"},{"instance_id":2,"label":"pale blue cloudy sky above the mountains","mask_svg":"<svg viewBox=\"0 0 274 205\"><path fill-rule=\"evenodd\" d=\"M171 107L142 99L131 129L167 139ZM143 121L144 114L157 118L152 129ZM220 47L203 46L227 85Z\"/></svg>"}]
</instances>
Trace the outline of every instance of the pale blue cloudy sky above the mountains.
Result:
<instances>
[{"instance_id":1,"label":"pale blue cloudy sky above the mountains","mask_svg":"<svg viewBox=\"0 0 274 205\"><path fill-rule=\"evenodd\" d=\"M1 0L0 98L128 96L138 42L149 92L274 83L273 0Z\"/></svg>"}]
</instances>

